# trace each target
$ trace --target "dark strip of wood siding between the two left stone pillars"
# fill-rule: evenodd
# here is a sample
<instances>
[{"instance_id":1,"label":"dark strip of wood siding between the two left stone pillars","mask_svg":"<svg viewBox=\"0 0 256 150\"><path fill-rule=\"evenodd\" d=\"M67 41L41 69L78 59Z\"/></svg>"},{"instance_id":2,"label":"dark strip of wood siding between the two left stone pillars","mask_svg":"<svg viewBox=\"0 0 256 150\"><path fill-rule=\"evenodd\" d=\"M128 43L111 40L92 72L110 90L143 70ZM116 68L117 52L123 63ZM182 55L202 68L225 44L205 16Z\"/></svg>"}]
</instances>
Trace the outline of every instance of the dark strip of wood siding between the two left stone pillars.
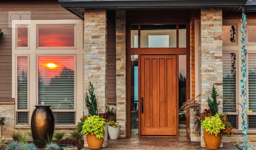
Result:
<instances>
[{"instance_id":1,"label":"dark strip of wood siding between the two left stone pillars","mask_svg":"<svg viewBox=\"0 0 256 150\"><path fill-rule=\"evenodd\" d=\"M116 13L107 12L108 103L116 102Z\"/></svg>"}]
</instances>

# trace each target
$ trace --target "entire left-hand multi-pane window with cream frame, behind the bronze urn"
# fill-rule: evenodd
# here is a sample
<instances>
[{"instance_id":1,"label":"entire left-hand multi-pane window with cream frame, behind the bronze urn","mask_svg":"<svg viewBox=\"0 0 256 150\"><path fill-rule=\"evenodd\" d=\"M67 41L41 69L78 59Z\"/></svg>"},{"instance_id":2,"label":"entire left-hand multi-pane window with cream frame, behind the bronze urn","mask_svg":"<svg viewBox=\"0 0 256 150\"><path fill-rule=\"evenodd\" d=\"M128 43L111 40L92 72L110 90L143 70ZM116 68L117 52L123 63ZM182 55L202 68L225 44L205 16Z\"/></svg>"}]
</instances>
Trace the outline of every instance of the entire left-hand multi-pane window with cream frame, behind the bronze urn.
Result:
<instances>
[{"instance_id":1,"label":"entire left-hand multi-pane window with cream frame, behind the bronze urn","mask_svg":"<svg viewBox=\"0 0 256 150\"><path fill-rule=\"evenodd\" d=\"M12 98L15 126L30 126L35 105L51 105L55 127L83 116L82 20L12 22Z\"/></svg>"}]
</instances>

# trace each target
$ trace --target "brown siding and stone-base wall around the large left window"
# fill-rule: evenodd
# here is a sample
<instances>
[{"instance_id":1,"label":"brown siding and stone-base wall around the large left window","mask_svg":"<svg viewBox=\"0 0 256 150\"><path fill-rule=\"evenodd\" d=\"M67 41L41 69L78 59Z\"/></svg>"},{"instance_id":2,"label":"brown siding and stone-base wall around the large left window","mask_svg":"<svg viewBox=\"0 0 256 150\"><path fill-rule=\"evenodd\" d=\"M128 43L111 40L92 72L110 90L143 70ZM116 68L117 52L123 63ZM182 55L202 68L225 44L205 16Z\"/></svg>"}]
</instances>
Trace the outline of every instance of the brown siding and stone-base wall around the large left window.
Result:
<instances>
[{"instance_id":1,"label":"brown siding and stone-base wall around the large left window","mask_svg":"<svg viewBox=\"0 0 256 150\"><path fill-rule=\"evenodd\" d=\"M13 15L9 13L30 13L30 16ZM1 128L1 134L5 140L12 140L10 134L19 130L14 126L14 98L15 87L12 87L12 28L11 20L20 19L79 19L60 6L58 1L2 1L0 6L0 29L3 34L0 37L0 116L6 117L5 126ZM32 113L32 112L31 112ZM55 127L55 130L73 130L75 127ZM22 131L30 131L30 127L21 127ZM69 132L67 132L69 133Z\"/></svg>"}]
</instances>

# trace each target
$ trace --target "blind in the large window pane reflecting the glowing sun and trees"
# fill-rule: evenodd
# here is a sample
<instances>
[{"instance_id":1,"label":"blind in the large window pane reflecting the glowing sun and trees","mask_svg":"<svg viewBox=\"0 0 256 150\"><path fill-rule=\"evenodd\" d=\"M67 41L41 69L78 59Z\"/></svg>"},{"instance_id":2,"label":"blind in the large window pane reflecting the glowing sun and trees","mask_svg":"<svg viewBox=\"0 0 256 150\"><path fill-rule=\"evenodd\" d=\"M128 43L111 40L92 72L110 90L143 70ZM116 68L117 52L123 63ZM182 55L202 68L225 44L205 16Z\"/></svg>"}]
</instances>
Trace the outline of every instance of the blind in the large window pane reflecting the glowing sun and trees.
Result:
<instances>
[{"instance_id":1,"label":"blind in the large window pane reflecting the glowing sun and trees","mask_svg":"<svg viewBox=\"0 0 256 150\"><path fill-rule=\"evenodd\" d=\"M74 110L74 56L38 57L38 101L52 110Z\"/></svg>"}]
</instances>

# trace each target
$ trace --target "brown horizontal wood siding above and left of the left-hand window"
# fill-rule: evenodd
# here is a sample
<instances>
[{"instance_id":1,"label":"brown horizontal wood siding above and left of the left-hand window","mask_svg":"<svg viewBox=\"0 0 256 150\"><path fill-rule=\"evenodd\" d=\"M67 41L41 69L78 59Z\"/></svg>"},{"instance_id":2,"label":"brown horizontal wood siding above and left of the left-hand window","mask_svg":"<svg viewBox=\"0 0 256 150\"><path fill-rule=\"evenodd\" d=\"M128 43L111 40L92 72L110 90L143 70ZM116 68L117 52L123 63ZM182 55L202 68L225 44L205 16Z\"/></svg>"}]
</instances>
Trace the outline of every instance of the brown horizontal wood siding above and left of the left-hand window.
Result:
<instances>
[{"instance_id":1,"label":"brown horizontal wood siding above and left of the left-hand window","mask_svg":"<svg viewBox=\"0 0 256 150\"><path fill-rule=\"evenodd\" d=\"M31 18L22 19L79 19L58 3L52 1L1 1L0 4L0 101L14 101L11 98L11 28L8 25L9 11L30 11ZM12 18L19 19L19 18Z\"/></svg>"}]
</instances>

